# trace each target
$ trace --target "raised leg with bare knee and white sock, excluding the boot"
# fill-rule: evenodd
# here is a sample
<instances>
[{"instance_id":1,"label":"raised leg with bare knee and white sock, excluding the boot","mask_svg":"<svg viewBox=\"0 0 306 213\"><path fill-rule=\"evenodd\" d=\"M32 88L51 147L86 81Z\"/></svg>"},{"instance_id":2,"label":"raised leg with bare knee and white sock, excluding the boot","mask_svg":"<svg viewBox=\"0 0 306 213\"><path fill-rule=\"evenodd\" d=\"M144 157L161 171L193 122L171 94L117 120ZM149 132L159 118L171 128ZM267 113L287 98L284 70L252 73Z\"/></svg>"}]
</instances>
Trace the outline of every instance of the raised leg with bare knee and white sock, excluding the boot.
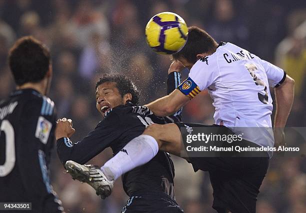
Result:
<instances>
[{"instance_id":1,"label":"raised leg with bare knee and white sock, excluding the boot","mask_svg":"<svg viewBox=\"0 0 306 213\"><path fill-rule=\"evenodd\" d=\"M180 154L180 131L176 124L151 124L143 134L129 141L101 167L108 179L115 180L125 172L150 161L161 149Z\"/></svg>"}]
</instances>

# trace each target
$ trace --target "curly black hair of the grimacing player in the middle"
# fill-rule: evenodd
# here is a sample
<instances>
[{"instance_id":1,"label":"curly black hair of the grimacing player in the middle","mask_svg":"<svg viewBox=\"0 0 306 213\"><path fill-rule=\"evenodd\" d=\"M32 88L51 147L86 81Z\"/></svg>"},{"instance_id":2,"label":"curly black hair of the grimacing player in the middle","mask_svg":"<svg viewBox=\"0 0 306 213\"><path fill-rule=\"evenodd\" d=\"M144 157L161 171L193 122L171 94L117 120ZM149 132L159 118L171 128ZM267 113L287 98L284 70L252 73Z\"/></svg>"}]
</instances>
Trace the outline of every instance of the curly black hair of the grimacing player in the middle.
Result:
<instances>
[{"instance_id":1,"label":"curly black hair of the grimacing player in the middle","mask_svg":"<svg viewBox=\"0 0 306 213\"><path fill-rule=\"evenodd\" d=\"M95 89L98 85L105 82L116 83L116 88L119 90L120 95L123 97L126 93L131 93L133 104L137 104L139 101L139 91L135 84L128 77L120 74L105 74L96 82Z\"/></svg>"}]
</instances>

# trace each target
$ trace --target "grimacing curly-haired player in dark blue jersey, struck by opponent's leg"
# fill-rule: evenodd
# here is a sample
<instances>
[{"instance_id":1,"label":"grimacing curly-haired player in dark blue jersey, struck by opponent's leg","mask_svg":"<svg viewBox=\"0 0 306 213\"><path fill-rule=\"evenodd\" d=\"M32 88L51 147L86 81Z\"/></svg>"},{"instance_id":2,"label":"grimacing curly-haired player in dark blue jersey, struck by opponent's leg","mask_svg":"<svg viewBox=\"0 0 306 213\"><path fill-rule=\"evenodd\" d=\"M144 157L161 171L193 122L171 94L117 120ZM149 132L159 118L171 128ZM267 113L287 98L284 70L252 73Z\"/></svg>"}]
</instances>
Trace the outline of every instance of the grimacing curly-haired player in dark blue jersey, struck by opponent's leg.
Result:
<instances>
[{"instance_id":1,"label":"grimacing curly-haired player in dark blue jersey, struck by opponent's leg","mask_svg":"<svg viewBox=\"0 0 306 213\"><path fill-rule=\"evenodd\" d=\"M169 73L168 93L179 83L179 73ZM179 122L181 117L180 111L171 116L157 117L147 107L138 106L136 87L122 75L106 75L100 78L96 83L95 95L96 107L103 120L81 141L73 143L69 139L74 132L71 123L66 118L59 119L56 131L57 153L63 164L68 160L74 161L72 163L76 167L66 167L72 172L73 178L85 181L94 188L99 181L110 182L111 186L107 188L110 193L113 182L109 181L111 177L103 176L99 169L92 165L81 164L106 147L111 147L114 154L120 152L128 155L130 153L122 147L140 135L147 125L153 122ZM90 172L91 176L76 175L73 173L75 169L84 169L88 174ZM130 196L122 212L183 212L174 200L173 178L174 167L170 156L166 152L158 151L152 160L122 175L124 191ZM104 194L104 191L95 189L97 193Z\"/></svg>"}]
</instances>

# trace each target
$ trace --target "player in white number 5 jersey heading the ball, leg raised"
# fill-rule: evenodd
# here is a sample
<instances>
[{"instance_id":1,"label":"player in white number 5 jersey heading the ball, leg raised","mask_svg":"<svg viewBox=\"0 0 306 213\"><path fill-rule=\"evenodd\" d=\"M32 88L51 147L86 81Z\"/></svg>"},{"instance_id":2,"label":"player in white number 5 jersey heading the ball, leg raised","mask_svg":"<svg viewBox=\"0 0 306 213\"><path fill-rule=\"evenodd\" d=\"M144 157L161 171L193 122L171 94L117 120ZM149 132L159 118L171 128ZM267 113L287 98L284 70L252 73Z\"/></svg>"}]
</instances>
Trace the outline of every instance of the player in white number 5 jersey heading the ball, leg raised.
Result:
<instances>
[{"instance_id":1,"label":"player in white number 5 jersey heading the ball, leg raised","mask_svg":"<svg viewBox=\"0 0 306 213\"><path fill-rule=\"evenodd\" d=\"M208 33L197 27L189 27L185 46L172 58L174 61L169 71L187 67L189 76L172 93L146 105L154 114L167 116L208 88L215 106L213 126L228 135L232 131L239 134L245 127L251 128L243 131L241 146L273 146L270 86L276 87L274 127L280 129L276 131L275 128L274 133L277 138L283 135L281 129L293 102L294 80L282 69L232 43L217 44ZM108 179L116 179L150 160L152 152L156 154L157 146L160 150L180 156L181 137L197 133L194 129L198 126L207 125L151 124L142 135L123 147L128 154L116 154L101 170ZM242 157L234 153L227 157L185 158L192 163L194 170L209 172L214 198L212 207L218 212L240 213L255 212L258 189L272 154L266 151L260 153L263 155Z\"/></svg>"}]
</instances>

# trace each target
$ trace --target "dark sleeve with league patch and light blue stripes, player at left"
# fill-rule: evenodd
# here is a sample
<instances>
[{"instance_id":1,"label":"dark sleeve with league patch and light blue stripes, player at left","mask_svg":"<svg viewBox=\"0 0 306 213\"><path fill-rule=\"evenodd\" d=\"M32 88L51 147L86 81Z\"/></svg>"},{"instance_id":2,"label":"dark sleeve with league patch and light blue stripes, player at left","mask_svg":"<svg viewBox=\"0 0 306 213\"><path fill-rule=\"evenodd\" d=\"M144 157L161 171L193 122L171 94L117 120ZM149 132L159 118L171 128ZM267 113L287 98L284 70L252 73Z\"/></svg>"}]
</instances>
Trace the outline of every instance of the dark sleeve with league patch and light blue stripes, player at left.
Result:
<instances>
[{"instance_id":1,"label":"dark sleeve with league patch and light blue stripes, player at left","mask_svg":"<svg viewBox=\"0 0 306 213\"><path fill-rule=\"evenodd\" d=\"M52 189L49 178L48 158L55 129L54 103L46 97L24 104L17 157L20 181L32 209L39 212L62 212L60 200Z\"/></svg>"}]
</instances>

